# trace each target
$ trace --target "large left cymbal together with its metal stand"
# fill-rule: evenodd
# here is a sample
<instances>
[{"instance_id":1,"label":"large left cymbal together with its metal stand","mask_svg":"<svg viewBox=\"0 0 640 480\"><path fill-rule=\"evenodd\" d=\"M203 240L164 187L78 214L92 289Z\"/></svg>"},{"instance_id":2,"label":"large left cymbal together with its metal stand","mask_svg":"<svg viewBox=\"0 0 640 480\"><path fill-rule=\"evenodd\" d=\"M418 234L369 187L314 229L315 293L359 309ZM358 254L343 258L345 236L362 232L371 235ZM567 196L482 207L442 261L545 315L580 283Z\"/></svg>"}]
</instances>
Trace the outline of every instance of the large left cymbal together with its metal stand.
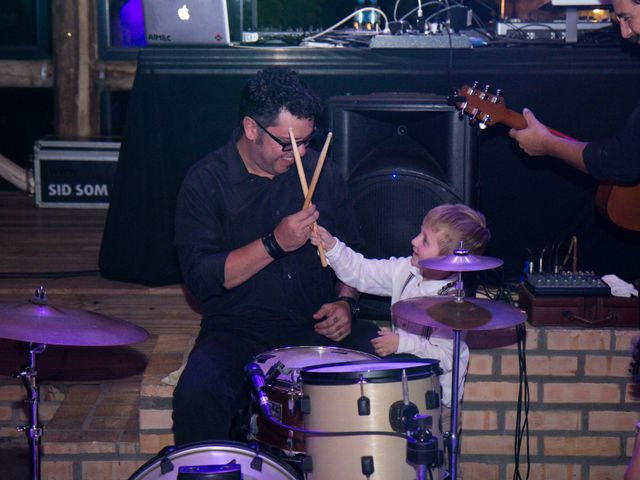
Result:
<instances>
[{"instance_id":1,"label":"large left cymbal together with its metal stand","mask_svg":"<svg viewBox=\"0 0 640 480\"><path fill-rule=\"evenodd\" d=\"M29 343L29 366L16 378L27 390L30 423L17 427L25 432L31 449L32 479L39 480L40 443L44 429L40 425L40 393L36 355L47 344L69 346L116 346L146 340L149 333L137 325L99 313L49 305L45 288L40 286L27 303L0 304L0 337Z\"/></svg>"}]
</instances>

